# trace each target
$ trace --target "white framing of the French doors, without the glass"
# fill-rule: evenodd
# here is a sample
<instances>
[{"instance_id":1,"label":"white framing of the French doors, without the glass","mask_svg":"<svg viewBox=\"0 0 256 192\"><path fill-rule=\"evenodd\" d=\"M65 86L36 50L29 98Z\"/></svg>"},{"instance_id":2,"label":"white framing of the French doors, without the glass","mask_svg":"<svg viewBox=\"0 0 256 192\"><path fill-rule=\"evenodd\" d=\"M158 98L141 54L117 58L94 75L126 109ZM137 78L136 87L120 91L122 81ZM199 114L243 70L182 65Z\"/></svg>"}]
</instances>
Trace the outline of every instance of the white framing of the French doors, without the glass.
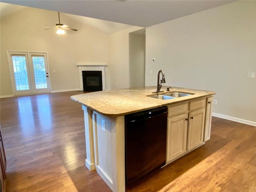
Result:
<instances>
[{"instance_id":1,"label":"white framing of the French doors, without the glass","mask_svg":"<svg viewBox=\"0 0 256 192\"><path fill-rule=\"evenodd\" d=\"M49 60L48 60L48 52L47 51L10 51L10 50L6 50L6 54L7 54L7 60L8 60L8 66L9 66L9 73L10 73L10 80L11 80L11 85L12 85L12 95L14 95L14 92L16 91L16 83L15 83L15 78L14 78L14 70L13 70L13 63L12 63L12 58L11 58L11 54L24 54L26 55L26 62L27 62L27 66L28 66L28 80L30 81L30 86L32 89L32 94L37 94L34 92L33 88L32 88L32 83L31 83L31 75L30 75L30 58L29 56L31 56L31 54L45 54L46 55L46 62L47 64L45 64L48 68L48 78L49 78L49 89L50 89L50 93L51 93L51 79L50 79L50 70L49 70ZM33 65L33 64L32 64ZM34 71L34 70L33 70ZM31 95L31 94L27 94L27 95ZM20 95L17 95L20 96Z\"/></svg>"}]
</instances>

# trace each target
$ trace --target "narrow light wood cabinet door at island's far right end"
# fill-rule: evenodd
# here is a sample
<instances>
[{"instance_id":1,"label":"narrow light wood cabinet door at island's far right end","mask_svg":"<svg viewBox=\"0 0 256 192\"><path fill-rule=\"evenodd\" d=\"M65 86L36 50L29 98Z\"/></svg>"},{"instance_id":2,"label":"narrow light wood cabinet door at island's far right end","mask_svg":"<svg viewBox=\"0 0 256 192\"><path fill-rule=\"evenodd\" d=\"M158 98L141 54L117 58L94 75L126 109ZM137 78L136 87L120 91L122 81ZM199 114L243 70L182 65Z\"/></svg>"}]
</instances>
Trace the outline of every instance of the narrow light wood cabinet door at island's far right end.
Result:
<instances>
[{"instance_id":1,"label":"narrow light wood cabinet door at island's far right end","mask_svg":"<svg viewBox=\"0 0 256 192\"><path fill-rule=\"evenodd\" d=\"M208 141L211 136L212 126L212 103L213 97L208 97L206 100L206 113L205 113L205 125L204 125L204 141Z\"/></svg>"}]
</instances>

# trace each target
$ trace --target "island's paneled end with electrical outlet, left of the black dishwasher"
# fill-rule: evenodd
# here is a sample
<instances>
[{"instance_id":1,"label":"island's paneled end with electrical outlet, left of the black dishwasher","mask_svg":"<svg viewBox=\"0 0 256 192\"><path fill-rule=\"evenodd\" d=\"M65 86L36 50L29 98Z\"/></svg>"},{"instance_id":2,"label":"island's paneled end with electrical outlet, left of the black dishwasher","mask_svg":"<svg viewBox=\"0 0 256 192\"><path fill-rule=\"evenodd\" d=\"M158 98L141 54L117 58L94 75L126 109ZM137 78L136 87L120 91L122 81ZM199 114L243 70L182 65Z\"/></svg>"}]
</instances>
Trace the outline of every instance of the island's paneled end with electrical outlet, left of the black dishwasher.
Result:
<instances>
[{"instance_id":1,"label":"island's paneled end with electrical outlet, left of the black dishwasher","mask_svg":"<svg viewBox=\"0 0 256 192\"><path fill-rule=\"evenodd\" d=\"M93 112L95 168L114 192L125 191L124 116Z\"/></svg>"}]
</instances>

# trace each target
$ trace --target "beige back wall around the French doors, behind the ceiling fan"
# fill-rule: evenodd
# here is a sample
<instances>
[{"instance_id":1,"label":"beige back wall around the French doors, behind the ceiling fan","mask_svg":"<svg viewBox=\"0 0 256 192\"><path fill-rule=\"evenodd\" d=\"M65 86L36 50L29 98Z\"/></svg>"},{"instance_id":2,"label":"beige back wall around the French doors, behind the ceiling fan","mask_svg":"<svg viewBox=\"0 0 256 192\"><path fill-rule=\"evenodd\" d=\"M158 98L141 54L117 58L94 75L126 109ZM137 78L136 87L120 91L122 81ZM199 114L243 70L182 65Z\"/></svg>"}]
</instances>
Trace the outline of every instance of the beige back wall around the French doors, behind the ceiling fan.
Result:
<instances>
[{"instance_id":1,"label":"beige back wall around the French doors, behind the ceiling fan","mask_svg":"<svg viewBox=\"0 0 256 192\"><path fill-rule=\"evenodd\" d=\"M51 90L79 90L76 64L107 64L108 36L88 28L64 14L63 24L78 29L59 36L55 30L44 30L58 23L58 13L26 8L1 18L0 96L12 95L6 50L47 51ZM54 70L56 72L54 72Z\"/></svg>"}]
</instances>

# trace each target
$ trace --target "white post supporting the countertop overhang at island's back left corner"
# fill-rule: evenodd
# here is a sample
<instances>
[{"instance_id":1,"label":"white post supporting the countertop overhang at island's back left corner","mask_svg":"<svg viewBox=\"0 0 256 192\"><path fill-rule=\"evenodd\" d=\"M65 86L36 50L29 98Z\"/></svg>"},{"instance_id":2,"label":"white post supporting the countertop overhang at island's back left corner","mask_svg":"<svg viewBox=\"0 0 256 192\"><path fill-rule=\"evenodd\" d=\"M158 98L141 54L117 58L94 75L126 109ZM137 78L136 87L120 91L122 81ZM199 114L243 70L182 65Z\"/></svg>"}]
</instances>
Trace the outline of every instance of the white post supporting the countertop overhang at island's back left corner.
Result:
<instances>
[{"instance_id":1,"label":"white post supporting the countertop overhang at island's back left corner","mask_svg":"<svg viewBox=\"0 0 256 192\"><path fill-rule=\"evenodd\" d=\"M85 166L90 170L95 170L94 163L94 142L93 142L93 127L92 127L92 110L82 105L84 110L84 130L85 130L85 146L86 160Z\"/></svg>"}]
</instances>

